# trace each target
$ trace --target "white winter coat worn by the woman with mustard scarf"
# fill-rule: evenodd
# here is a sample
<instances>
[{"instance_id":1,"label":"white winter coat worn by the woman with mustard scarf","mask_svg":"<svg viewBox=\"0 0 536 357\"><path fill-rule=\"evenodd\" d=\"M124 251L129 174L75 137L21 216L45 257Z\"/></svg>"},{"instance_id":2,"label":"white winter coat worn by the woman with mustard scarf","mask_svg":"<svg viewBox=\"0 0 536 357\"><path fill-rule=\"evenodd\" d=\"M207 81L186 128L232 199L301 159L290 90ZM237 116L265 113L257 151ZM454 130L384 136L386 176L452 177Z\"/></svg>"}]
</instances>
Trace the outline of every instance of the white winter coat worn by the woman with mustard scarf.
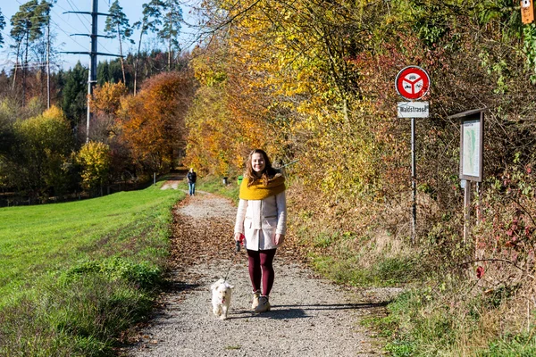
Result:
<instances>
[{"instance_id":1,"label":"white winter coat worn by the woman with mustard scarf","mask_svg":"<svg viewBox=\"0 0 536 357\"><path fill-rule=\"evenodd\" d=\"M287 231L287 201L285 192L264 200L240 199L235 233L246 237L246 249L252 251L275 249L275 235Z\"/></svg>"}]
</instances>

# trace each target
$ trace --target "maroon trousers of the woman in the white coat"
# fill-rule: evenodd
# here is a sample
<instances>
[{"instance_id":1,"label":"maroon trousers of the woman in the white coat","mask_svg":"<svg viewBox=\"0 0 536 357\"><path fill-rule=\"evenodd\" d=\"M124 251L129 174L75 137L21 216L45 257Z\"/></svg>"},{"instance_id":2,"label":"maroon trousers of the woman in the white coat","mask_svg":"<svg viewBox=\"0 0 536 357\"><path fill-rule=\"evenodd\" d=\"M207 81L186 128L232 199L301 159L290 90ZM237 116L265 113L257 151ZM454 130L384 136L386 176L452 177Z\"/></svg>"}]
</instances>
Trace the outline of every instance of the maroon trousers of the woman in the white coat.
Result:
<instances>
[{"instance_id":1,"label":"maroon trousers of the woman in the white coat","mask_svg":"<svg viewBox=\"0 0 536 357\"><path fill-rule=\"evenodd\" d=\"M251 279L251 285L253 291L261 289L261 280L263 282L262 295L270 295L270 291L273 286L273 257L275 256L276 249L270 249L267 251L250 251L247 250L247 259L249 270L249 278Z\"/></svg>"}]
</instances>

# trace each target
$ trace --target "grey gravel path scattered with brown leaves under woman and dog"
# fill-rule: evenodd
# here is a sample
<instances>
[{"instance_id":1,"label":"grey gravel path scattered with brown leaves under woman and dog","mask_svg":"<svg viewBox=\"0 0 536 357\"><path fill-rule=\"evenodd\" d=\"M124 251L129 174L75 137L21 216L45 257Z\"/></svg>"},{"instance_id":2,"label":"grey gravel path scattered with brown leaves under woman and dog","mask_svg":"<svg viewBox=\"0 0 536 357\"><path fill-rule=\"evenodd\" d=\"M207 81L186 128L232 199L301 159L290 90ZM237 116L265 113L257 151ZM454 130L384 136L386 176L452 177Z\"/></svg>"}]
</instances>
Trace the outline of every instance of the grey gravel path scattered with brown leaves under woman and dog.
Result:
<instances>
[{"instance_id":1,"label":"grey gravel path scattered with brown leaves under woman and dog","mask_svg":"<svg viewBox=\"0 0 536 357\"><path fill-rule=\"evenodd\" d=\"M314 276L283 248L274 262L272 311L249 310L247 255L232 249L236 208L197 194L175 209L171 286L128 356L378 356L380 343L359 320L379 313L396 291L357 291ZM234 285L228 320L211 311L210 285ZM364 300L365 299L365 300ZM368 301L368 302L367 302Z\"/></svg>"}]
</instances>

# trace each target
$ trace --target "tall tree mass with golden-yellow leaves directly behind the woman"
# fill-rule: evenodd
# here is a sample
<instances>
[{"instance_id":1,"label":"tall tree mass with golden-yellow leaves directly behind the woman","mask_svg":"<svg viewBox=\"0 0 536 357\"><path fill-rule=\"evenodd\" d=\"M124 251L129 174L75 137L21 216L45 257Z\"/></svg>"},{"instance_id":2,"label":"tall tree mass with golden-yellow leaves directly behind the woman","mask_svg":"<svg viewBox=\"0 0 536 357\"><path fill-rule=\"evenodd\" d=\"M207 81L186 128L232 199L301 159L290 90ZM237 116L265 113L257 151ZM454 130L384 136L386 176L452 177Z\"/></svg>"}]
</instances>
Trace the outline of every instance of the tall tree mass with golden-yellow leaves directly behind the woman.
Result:
<instances>
[{"instance_id":1,"label":"tall tree mass with golden-yellow leaves directly behind the woman","mask_svg":"<svg viewBox=\"0 0 536 357\"><path fill-rule=\"evenodd\" d=\"M261 147L276 165L299 159L300 177L327 195L381 198L381 157L389 147L374 131L382 125L374 103L350 91L358 71L346 58L368 39L345 29L364 26L371 16L364 9L378 4L211 4L233 21L197 50L194 68L204 87L187 120L187 161L214 173L240 171L248 152ZM217 89L207 88L216 82Z\"/></svg>"}]
</instances>

